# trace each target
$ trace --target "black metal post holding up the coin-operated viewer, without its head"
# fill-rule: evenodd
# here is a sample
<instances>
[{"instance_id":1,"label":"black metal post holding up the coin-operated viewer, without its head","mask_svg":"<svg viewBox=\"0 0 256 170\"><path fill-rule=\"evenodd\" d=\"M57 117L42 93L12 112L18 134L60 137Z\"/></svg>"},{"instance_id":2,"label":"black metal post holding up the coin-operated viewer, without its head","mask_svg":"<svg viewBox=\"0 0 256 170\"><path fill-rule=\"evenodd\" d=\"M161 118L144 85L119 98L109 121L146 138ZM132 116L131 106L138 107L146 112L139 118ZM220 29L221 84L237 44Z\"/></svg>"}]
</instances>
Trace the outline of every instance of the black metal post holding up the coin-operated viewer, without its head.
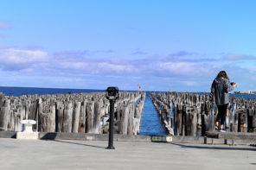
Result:
<instances>
[{"instance_id":1,"label":"black metal post holding up the coin-operated viewer, without its head","mask_svg":"<svg viewBox=\"0 0 256 170\"><path fill-rule=\"evenodd\" d=\"M110 99L110 118L109 118L109 138L108 138L108 149L115 149L113 147L113 117L114 117L114 103L113 99Z\"/></svg>"}]
</instances>

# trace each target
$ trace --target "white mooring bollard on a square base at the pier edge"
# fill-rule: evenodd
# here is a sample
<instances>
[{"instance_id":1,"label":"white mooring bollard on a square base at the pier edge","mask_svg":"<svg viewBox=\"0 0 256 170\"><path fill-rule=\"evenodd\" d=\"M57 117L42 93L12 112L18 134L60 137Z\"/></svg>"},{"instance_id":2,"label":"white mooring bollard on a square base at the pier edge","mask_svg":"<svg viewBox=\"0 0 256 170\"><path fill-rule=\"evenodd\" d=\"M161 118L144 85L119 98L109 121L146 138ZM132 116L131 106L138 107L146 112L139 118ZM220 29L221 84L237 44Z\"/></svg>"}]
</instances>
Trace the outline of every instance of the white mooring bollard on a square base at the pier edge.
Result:
<instances>
[{"instance_id":1,"label":"white mooring bollard on a square base at the pier edge","mask_svg":"<svg viewBox=\"0 0 256 170\"><path fill-rule=\"evenodd\" d=\"M35 124L35 120L22 120L23 129L21 132L17 132L16 139L38 139L38 132L33 132L32 126Z\"/></svg>"}]
</instances>

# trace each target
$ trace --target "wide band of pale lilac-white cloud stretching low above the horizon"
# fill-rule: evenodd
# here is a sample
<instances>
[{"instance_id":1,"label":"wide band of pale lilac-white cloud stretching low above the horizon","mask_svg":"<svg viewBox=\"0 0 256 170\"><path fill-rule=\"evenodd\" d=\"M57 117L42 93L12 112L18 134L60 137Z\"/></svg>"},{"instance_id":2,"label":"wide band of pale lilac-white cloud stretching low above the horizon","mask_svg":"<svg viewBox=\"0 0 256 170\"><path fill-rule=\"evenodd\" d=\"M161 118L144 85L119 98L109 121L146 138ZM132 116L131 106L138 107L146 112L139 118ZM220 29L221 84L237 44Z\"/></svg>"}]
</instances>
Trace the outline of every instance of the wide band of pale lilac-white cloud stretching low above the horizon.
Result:
<instances>
[{"instance_id":1,"label":"wide band of pale lilac-white cloud stretching low above the horizon","mask_svg":"<svg viewBox=\"0 0 256 170\"><path fill-rule=\"evenodd\" d=\"M20 76L56 78L56 81L52 82L56 82L57 85L67 85L68 82L74 81L74 88L84 86L87 82L101 86L107 82L108 84L115 82L124 85L125 88L131 88L131 85L142 82L141 84L144 83L144 86L149 88L147 90L151 90L150 88L161 85L161 82L163 84L176 82L176 85L165 85L164 89L171 88L177 91L182 89L193 91L193 88L194 91L206 91L208 84L220 70L230 72L231 76L250 71L246 79L253 79L256 70L255 67L242 68L235 63L234 66L225 63L220 65L221 58L199 56L189 59L190 55L195 54L181 51L166 56L128 60L114 57L97 58L86 50L48 53L38 49L1 48L0 68L1 72L15 72L15 75ZM240 59L237 56L234 58ZM157 79L157 82L153 78ZM206 87L203 90L201 86Z\"/></svg>"}]
</instances>

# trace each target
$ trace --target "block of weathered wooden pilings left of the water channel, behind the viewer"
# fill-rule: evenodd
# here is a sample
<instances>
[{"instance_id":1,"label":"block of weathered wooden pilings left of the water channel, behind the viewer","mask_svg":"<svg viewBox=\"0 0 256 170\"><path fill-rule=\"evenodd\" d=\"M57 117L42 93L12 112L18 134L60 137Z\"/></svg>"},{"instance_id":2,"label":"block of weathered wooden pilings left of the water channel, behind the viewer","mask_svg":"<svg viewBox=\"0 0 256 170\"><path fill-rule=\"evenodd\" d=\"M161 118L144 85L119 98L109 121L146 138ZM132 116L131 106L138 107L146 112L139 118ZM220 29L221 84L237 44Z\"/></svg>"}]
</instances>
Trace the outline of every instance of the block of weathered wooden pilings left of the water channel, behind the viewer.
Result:
<instances>
[{"instance_id":1,"label":"block of weathered wooden pilings left of the water channel, behind the viewer","mask_svg":"<svg viewBox=\"0 0 256 170\"><path fill-rule=\"evenodd\" d=\"M0 130L21 131L23 119L36 121L42 132L107 133L110 104L104 92L4 96L0 93ZM119 92L114 129L138 134L145 93Z\"/></svg>"}]
</instances>

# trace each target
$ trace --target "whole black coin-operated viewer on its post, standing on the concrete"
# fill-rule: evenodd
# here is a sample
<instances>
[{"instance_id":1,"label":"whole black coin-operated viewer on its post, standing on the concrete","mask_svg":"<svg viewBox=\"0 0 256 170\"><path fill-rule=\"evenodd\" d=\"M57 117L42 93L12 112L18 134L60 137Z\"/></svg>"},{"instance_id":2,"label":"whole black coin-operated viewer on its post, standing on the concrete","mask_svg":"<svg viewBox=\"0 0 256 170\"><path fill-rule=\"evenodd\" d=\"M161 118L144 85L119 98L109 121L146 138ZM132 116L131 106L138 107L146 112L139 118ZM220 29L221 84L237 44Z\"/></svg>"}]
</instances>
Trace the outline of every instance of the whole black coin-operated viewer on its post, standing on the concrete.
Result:
<instances>
[{"instance_id":1,"label":"whole black coin-operated viewer on its post, standing on the concrete","mask_svg":"<svg viewBox=\"0 0 256 170\"><path fill-rule=\"evenodd\" d=\"M115 149L113 147L113 116L114 116L114 104L115 100L119 98L118 87L107 87L106 98L110 102L110 118L109 118L109 138L108 138L108 149Z\"/></svg>"}]
</instances>

